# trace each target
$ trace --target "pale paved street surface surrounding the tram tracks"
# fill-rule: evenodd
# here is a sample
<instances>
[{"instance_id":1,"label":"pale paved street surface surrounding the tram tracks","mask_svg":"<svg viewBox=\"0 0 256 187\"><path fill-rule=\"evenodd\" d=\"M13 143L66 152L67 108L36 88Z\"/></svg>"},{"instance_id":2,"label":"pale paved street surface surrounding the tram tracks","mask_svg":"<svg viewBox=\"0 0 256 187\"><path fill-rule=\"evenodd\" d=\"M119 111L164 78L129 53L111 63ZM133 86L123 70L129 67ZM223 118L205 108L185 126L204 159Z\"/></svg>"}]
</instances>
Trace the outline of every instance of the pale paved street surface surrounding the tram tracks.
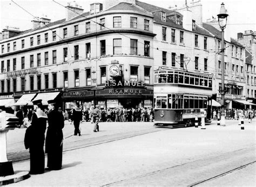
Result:
<instances>
[{"instance_id":1,"label":"pale paved street surface surrounding the tram tracks","mask_svg":"<svg viewBox=\"0 0 256 187\"><path fill-rule=\"evenodd\" d=\"M81 124L82 136L72 136L73 126L66 121L63 129L65 137L63 144L64 149L68 145L70 145L70 149L63 153L62 170L31 175L30 178L10 184L10 186L170 186L171 183L165 183L166 180L155 183L157 180L153 176L150 177L151 183L149 179L149 183L147 183L145 178L142 181L131 181L131 179L149 173L154 174L156 171L165 170L177 164L219 157L219 155L244 149L254 150L253 158L249 157L251 151L248 152L248 159L253 160L255 158L256 142L255 122L255 119L253 123L248 123L245 120L245 130L241 130L237 120L227 120L225 127L217 126L217 121L212 121L211 125L206 126L204 130L200 127L155 128L151 122L109 122L100 123L98 133L92 131L93 124L84 122ZM9 156L25 151L22 141L24 132L25 129L9 131L7 135ZM123 135L124 133L130 134L130 136L127 136L129 138L118 139L117 137L116 141L71 149L79 142L87 142L92 139L103 140L105 137ZM132 134L137 134L137 136L132 136ZM45 156L46 160L47 156ZM29 160L15 162L13 167L15 171L29 171ZM227 184L255 185L256 179L253 175L255 174L255 164L241 170L237 175L235 175L236 172L238 171L218 178L217 181L210 181L205 186L216 184L223 184L224 186ZM251 176L248 174L251 174ZM238 175L240 175L239 178ZM156 177L156 175L154 176ZM186 181L182 182L186 184Z\"/></svg>"}]
</instances>

